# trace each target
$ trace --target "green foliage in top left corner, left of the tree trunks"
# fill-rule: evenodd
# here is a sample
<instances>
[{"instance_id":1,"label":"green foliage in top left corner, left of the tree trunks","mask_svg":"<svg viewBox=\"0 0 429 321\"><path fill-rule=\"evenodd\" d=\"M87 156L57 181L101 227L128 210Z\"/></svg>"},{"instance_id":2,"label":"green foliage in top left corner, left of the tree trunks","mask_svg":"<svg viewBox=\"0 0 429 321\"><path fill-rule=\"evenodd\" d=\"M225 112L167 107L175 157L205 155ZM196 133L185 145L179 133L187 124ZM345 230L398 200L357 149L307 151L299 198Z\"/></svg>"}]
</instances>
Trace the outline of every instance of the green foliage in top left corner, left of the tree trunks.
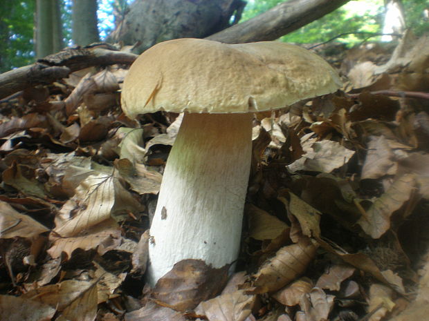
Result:
<instances>
[{"instance_id":1,"label":"green foliage in top left corner, left of the tree trunks","mask_svg":"<svg viewBox=\"0 0 429 321\"><path fill-rule=\"evenodd\" d=\"M0 6L0 72L34 60L35 1L3 1Z\"/></svg>"}]
</instances>

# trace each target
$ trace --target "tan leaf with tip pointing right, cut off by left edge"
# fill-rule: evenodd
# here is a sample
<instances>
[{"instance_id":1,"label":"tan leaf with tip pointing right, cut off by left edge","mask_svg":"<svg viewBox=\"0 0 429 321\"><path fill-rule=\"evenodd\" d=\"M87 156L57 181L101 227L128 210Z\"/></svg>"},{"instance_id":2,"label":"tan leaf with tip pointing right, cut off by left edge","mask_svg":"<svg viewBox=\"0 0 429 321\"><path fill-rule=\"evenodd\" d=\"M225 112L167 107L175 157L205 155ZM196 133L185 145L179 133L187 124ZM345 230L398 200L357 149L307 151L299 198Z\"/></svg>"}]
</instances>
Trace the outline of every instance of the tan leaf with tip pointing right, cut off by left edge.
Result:
<instances>
[{"instance_id":1,"label":"tan leaf with tip pointing right, cut off by left edge","mask_svg":"<svg viewBox=\"0 0 429 321\"><path fill-rule=\"evenodd\" d=\"M28 215L18 213L6 202L0 201L0 213L0 239L17 236L33 238L49 231L46 226Z\"/></svg>"}]
</instances>

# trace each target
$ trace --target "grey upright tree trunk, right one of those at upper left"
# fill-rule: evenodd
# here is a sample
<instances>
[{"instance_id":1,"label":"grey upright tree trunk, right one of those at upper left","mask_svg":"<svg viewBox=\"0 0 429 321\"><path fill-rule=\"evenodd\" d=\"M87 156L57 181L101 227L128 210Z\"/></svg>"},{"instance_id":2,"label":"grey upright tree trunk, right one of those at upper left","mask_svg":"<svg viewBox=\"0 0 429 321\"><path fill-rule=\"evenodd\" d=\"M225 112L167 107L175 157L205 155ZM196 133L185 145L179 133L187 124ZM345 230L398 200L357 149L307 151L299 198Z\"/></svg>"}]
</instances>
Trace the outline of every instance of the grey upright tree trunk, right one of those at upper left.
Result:
<instances>
[{"instance_id":1,"label":"grey upright tree trunk, right one of those at upper left","mask_svg":"<svg viewBox=\"0 0 429 321\"><path fill-rule=\"evenodd\" d=\"M97 28L97 0L73 0L72 10L73 43L86 46L100 41Z\"/></svg>"}]
</instances>

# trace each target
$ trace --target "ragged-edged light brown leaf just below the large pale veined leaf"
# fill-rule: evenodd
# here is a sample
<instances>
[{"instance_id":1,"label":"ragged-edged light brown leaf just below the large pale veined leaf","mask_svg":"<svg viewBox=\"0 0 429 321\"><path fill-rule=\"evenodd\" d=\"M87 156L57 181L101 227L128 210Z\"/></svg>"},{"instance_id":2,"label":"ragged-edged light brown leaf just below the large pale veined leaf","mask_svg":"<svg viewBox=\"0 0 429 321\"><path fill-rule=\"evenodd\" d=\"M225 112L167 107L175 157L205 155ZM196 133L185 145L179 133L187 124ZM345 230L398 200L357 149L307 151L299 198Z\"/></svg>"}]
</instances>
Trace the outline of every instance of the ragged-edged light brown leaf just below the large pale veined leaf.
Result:
<instances>
[{"instance_id":1,"label":"ragged-edged light brown leaf just below the large pale veined leaf","mask_svg":"<svg viewBox=\"0 0 429 321\"><path fill-rule=\"evenodd\" d=\"M62 252L71 257L71 253L75 249L83 249L84 251L98 249L98 253L103 255L119 245L120 234L121 232L116 222L105 220L73 237L56 237L55 234L51 234L50 240L53 240L53 246L47 252L51 257L56 258L60 257Z\"/></svg>"}]
</instances>

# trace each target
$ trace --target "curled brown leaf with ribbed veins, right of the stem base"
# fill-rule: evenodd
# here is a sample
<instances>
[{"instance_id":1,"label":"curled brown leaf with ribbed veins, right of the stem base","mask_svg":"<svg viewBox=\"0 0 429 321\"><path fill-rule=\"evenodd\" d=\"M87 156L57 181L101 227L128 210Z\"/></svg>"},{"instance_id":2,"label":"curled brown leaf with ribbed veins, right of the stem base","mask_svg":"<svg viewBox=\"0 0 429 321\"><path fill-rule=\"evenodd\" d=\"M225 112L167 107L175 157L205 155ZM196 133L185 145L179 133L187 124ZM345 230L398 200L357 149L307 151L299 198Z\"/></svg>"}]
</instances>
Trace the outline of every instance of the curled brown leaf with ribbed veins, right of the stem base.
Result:
<instances>
[{"instance_id":1,"label":"curled brown leaf with ribbed veins, right of the stem base","mask_svg":"<svg viewBox=\"0 0 429 321\"><path fill-rule=\"evenodd\" d=\"M297 244L282 247L253 275L255 293L277 291L298 278L315 257L316 249L313 240L304 237Z\"/></svg>"}]
</instances>

